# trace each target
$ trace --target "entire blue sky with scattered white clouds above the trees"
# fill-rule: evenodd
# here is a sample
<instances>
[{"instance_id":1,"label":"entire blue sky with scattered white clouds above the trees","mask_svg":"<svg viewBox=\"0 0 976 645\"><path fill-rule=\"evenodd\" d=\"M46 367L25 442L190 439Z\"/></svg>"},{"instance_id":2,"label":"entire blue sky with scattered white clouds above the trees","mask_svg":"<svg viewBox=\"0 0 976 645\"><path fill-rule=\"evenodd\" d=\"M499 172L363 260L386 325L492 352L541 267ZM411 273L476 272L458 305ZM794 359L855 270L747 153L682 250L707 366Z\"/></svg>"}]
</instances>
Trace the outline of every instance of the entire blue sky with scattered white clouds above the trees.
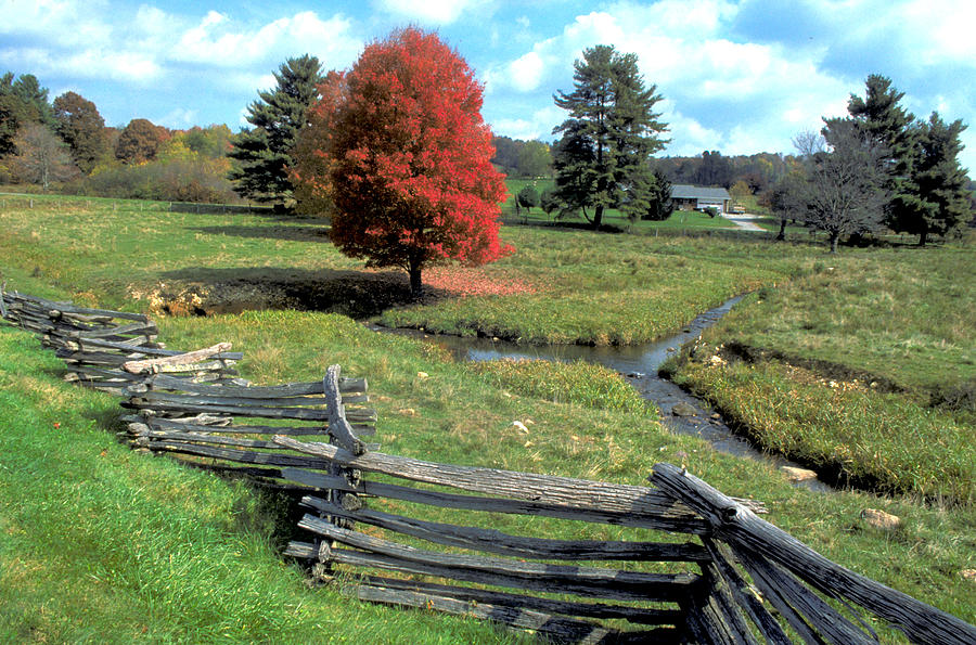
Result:
<instances>
[{"instance_id":1,"label":"entire blue sky with scattered white clouds above the trees","mask_svg":"<svg viewBox=\"0 0 976 645\"><path fill-rule=\"evenodd\" d=\"M73 90L108 125L245 125L257 90L290 56L346 68L391 29L434 29L485 83L498 134L551 139L585 48L640 59L670 125L663 154L793 152L791 139L846 112L878 73L920 117L972 124L976 170L976 2L971 0L0 0L0 73Z\"/></svg>"}]
</instances>

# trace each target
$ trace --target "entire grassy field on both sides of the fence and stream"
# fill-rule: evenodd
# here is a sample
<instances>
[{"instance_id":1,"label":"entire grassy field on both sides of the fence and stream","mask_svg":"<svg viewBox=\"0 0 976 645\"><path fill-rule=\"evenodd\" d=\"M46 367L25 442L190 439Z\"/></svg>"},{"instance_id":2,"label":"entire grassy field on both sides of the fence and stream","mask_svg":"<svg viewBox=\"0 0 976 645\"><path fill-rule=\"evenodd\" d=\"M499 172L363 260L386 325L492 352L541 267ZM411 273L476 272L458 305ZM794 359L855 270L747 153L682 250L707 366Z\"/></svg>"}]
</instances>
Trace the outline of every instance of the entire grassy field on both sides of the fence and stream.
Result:
<instances>
[{"instance_id":1,"label":"entire grassy field on both sides of the fence and stream","mask_svg":"<svg viewBox=\"0 0 976 645\"><path fill-rule=\"evenodd\" d=\"M657 462L684 463L727 494L762 501L766 519L826 557L976 622L972 233L827 255L806 233L774 243L679 217L594 233L535 212L536 225L502 228L513 255L431 270L411 302L404 274L342 256L324 220L0 195L0 271L7 289L150 313L169 347L230 341L257 384L313 380L339 363L369 377L377 441L393 454L631 485ZM607 369L459 362L360 324L631 345L746 293L666 370L756 446L837 491L796 488L772 466L667 431ZM117 399L61 376L35 338L0 326L0 640L519 642L309 589L281 556L295 521L282 499L129 451L116 440ZM902 524L874 528L864 508Z\"/></svg>"}]
</instances>

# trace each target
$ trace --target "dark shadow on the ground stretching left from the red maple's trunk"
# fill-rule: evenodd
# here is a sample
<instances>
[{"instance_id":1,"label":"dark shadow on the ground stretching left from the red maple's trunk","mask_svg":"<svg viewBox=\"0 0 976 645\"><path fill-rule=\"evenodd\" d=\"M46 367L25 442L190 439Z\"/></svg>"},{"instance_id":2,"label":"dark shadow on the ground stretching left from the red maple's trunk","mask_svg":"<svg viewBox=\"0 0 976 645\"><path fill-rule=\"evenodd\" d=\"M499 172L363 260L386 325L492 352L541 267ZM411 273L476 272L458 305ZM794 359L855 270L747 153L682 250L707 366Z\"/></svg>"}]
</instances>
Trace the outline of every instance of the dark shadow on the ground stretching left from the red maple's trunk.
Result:
<instances>
[{"instance_id":1,"label":"dark shadow on the ground stretching left from the red maple's trunk","mask_svg":"<svg viewBox=\"0 0 976 645\"><path fill-rule=\"evenodd\" d=\"M157 313L211 315L253 309L295 309L342 313L354 319L378 315L414 302L402 271L336 269L211 269L190 267L159 275L167 291ZM423 301L452 297L427 286Z\"/></svg>"}]
</instances>

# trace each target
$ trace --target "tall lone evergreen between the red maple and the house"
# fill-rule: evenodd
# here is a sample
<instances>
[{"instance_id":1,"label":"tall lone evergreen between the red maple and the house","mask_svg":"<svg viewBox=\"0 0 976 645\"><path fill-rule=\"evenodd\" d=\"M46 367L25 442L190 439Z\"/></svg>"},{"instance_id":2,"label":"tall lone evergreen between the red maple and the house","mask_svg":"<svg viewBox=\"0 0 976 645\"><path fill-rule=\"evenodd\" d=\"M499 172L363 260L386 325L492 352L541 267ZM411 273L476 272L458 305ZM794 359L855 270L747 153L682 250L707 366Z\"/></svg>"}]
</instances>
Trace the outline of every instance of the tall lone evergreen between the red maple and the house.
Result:
<instances>
[{"instance_id":1,"label":"tall lone evergreen between the red maple and the house","mask_svg":"<svg viewBox=\"0 0 976 645\"><path fill-rule=\"evenodd\" d=\"M618 206L622 189L651 172L647 158L667 143L659 134L667 124L653 111L660 101L656 86L644 87L635 54L619 54L613 46L583 51L574 64L575 89L553 96L569 118L553 130L562 139L553 149L556 195L563 211L593 208L599 229L606 208Z\"/></svg>"}]
</instances>

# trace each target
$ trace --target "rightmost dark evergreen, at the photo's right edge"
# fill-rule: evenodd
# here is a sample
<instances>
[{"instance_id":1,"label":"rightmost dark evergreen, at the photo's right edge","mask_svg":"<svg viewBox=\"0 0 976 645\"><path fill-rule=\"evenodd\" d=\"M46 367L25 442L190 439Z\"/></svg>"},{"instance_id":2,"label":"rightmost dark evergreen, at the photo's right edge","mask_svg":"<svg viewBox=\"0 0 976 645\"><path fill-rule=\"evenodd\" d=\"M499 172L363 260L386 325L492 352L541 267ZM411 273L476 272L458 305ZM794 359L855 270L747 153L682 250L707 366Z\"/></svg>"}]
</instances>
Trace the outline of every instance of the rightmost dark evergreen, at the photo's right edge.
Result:
<instances>
[{"instance_id":1,"label":"rightmost dark evergreen, at the photo's right edge","mask_svg":"<svg viewBox=\"0 0 976 645\"><path fill-rule=\"evenodd\" d=\"M920 129L920 154L914 168L919 217L906 222L903 229L919 235L920 246L925 246L929 235L952 234L973 219L969 178L958 158L963 149L960 133L965 128L961 120L947 125L934 112Z\"/></svg>"}]
</instances>

